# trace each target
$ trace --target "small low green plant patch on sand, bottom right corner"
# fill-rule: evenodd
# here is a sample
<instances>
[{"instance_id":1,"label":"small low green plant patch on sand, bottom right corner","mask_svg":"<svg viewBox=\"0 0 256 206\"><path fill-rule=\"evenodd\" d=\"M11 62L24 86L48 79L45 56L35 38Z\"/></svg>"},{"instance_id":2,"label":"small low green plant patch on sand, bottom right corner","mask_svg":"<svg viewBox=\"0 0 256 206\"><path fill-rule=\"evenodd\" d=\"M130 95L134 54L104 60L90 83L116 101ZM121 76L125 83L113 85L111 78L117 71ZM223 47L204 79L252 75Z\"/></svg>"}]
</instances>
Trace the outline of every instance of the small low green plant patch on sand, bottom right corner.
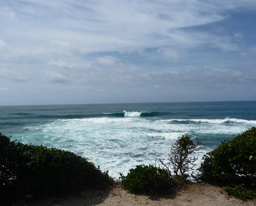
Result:
<instances>
[{"instance_id":1,"label":"small low green plant patch on sand, bottom right corner","mask_svg":"<svg viewBox=\"0 0 256 206\"><path fill-rule=\"evenodd\" d=\"M244 187L244 184L235 187L226 187L225 191L229 196L234 196L242 200L256 197L256 190L247 190L247 188Z\"/></svg>"}]
</instances>

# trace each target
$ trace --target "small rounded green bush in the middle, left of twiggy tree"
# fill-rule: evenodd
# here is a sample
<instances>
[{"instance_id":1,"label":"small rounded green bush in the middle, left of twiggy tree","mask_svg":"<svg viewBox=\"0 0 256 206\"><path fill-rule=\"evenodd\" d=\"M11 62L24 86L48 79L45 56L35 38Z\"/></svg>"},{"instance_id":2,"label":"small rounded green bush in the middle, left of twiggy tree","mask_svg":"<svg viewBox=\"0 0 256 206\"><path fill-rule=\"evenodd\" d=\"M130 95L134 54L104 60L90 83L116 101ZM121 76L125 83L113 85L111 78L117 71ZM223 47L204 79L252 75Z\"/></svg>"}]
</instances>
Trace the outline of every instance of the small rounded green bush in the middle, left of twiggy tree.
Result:
<instances>
[{"instance_id":1,"label":"small rounded green bush in the middle, left of twiggy tree","mask_svg":"<svg viewBox=\"0 0 256 206\"><path fill-rule=\"evenodd\" d=\"M134 194L165 193L174 188L168 171L153 165L137 165L127 176L120 175L124 188Z\"/></svg>"}]
</instances>

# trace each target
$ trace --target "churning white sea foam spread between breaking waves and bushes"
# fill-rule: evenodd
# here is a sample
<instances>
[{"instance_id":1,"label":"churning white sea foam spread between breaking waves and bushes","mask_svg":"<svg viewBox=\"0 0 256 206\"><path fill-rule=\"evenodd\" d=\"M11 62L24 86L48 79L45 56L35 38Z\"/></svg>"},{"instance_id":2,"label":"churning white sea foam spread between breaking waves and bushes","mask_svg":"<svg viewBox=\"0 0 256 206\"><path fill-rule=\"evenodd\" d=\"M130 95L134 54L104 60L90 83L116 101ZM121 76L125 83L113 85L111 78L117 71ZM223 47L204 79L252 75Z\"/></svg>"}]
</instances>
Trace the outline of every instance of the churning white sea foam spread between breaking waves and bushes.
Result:
<instances>
[{"instance_id":1,"label":"churning white sea foam spread between breaking waves and bushes","mask_svg":"<svg viewBox=\"0 0 256 206\"><path fill-rule=\"evenodd\" d=\"M132 118L139 117L141 112L126 114L127 118L59 119L27 125L25 128L31 131L31 135L23 136L22 141L76 152L100 165L101 169L109 170L109 174L118 179L119 173L127 174L138 164L155 164L155 160L166 159L179 136L192 135L194 138L212 135L225 136L226 139L227 135L235 136L256 122L226 118L189 119L190 124L169 124L170 121L188 119L161 121L157 118ZM227 121L240 124L225 124ZM220 144L214 139L209 142L213 146ZM211 149L205 148L199 156Z\"/></svg>"}]
</instances>

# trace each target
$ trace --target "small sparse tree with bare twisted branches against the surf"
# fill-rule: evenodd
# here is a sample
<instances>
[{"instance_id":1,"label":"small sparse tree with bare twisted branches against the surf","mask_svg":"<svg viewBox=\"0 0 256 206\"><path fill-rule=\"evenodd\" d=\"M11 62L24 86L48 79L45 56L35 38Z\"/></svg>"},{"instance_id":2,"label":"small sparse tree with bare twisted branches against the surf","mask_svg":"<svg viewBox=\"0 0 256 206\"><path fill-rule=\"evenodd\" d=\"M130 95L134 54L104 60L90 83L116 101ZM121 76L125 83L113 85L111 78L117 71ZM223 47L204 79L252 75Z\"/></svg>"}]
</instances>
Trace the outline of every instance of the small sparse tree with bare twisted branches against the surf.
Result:
<instances>
[{"instance_id":1,"label":"small sparse tree with bare twisted branches against the surf","mask_svg":"<svg viewBox=\"0 0 256 206\"><path fill-rule=\"evenodd\" d=\"M202 142L197 138L193 141L189 136L182 135L170 148L168 162L160 160L160 165L168 170L171 177L180 176L186 179L189 176L187 173L194 170L195 162L198 160L197 153L203 148Z\"/></svg>"}]
</instances>

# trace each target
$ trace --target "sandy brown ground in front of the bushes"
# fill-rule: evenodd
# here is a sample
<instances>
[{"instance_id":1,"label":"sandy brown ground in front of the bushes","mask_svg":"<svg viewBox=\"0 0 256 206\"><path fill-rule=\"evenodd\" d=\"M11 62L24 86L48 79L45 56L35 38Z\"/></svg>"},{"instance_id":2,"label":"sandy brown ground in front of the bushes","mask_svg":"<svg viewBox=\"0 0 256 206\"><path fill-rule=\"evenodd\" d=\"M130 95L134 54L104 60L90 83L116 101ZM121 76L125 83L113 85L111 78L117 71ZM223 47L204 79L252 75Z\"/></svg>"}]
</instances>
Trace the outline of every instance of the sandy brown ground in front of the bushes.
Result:
<instances>
[{"instance_id":1,"label":"sandy brown ground in front of the bushes","mask_svg":"<svg viewBox=\"0 0 256 206\"><path fill-rule=\"evenodd\" d=\"M80 195L65 198L51 198L37 203L34 206L130 206L130 205L170 205L170 206L215 206L215 205L256 205L256 200L242 201L235 197L229 197L223 188L205 184L194 183L182 188L176 194L164 196L143 196L126 192L121 187L112 188L110 191L94 191L81 193Z\"/></svg>"}]
</instances>

